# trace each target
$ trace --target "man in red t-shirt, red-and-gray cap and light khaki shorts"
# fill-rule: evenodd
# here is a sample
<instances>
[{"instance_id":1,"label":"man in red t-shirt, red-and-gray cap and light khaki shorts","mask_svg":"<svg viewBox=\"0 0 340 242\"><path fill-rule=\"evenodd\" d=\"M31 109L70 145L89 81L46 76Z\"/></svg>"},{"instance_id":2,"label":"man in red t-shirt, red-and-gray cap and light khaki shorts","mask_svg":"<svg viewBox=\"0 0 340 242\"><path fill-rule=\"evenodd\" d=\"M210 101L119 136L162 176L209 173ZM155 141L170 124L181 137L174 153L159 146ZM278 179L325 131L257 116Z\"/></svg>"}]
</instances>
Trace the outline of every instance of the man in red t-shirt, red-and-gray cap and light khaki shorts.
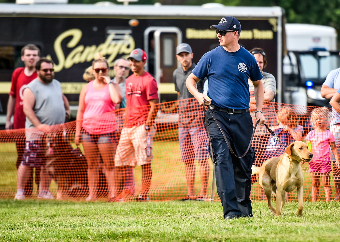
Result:
<instances>
[{"instance_id":1,"label":"man in red t-shirt, red-and-gray cap and light khaki shorts","mask_svg":"<svg viewBox=\"0 0 340 242\"><path fill-rule=\"evenodd\" d=\"M125 123L115 156L115 166L122 173L118 176L121 180L117 181L116 194L124 184L124 168L138 165L142 167L142 190L137 201L147 201L152 177L151 134L155 132L158 87L153 76L144 70L147 55L142 49L133 50L128 59L133 74L126 79Z\"/></svg>"}]
</instances>

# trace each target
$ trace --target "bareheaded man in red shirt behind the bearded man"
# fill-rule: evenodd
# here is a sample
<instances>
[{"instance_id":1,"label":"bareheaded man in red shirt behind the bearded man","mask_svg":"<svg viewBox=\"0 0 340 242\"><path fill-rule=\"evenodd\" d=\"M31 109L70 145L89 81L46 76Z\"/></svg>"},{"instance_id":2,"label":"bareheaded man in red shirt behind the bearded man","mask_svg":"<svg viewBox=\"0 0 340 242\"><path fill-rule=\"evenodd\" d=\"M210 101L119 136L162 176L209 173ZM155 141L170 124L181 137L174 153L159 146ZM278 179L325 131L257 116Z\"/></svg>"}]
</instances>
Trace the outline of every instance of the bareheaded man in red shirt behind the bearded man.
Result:
<instances>
[{"instance_id":1,"label":"bareheaded man in red shirt behind the bearded man","mask_svg":"<svg viewBox=\"0 0 340 242\"><path fill-rule=\"evenodd\" d=\"M12 86L9 93L7 103L7 116L6 116L6 129L13 128L25 128L26 116L23 113L23 90L26 85L32 80L37 78L37 72L35 70L35 64L40 59L40 50L36 45L28 44L21 49L21 60L25 64L25 67L19 67L14 70L12 74ZM13 123L12 123L12 116ZM25 148L25 134L22 132L16 139L17 148L17 168L21 163L21 158ZM39 172L36 172L39 174ZM37 184L39 184L39 177L36 178ZM25 187L25 195L32 194L32 180L33 172Z\"/></svg>"}]
</instances>

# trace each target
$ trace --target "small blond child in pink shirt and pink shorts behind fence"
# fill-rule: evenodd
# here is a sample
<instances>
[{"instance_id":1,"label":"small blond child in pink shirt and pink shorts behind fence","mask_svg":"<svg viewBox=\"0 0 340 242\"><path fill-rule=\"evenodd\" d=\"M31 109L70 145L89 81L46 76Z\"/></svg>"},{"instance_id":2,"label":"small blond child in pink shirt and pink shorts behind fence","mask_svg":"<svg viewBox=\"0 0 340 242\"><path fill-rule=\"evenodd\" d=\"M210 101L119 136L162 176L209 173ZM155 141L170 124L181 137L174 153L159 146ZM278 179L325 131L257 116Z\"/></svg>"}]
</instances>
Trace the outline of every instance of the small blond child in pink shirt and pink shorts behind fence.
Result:
<instances>
[{"instance_id":1,"label":"small blond child in pink shirt and pink shorts behind fence","mask_svg":"<svg viewBox=\"0 0 340 242\"><path fill-rule=\"evenodd\" d=\"M331 169L329 147L339 162L339 154L335 146L334 135L328 128L329 111L327 107L314 108L311 113L311 124L314 127L306 136L306 142L313 153L309 162L309 172L312 175L312 202L318 200L320 176L325 189L326 202L331 201L331 186L329 174Z\"/></svg>"}]
</instances>

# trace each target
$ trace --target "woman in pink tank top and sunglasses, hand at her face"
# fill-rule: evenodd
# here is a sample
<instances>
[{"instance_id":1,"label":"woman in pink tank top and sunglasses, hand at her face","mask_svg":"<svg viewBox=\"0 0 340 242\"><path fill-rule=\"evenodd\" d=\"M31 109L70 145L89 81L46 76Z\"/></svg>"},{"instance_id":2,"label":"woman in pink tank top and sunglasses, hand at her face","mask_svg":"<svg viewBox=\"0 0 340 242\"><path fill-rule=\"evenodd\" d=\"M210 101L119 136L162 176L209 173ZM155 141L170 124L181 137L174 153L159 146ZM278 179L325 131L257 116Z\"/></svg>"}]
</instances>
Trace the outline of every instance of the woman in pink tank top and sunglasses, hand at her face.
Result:
<instances>
[{"instance_id":1,"label":"woman in pink tank top and sunglasses, hand at her face","mask_svg":"<svg viewBox=\"0 0 340 242\"><path fill-rule=\"evenodd\" d=\"M99 186L99 155L103 160L103 173L107 180L109 197L115 197L115 163L117 148L117 122L115 106L122 100L117 83L108 76L109 66L103 57L93 64L95 80L87 83L80 92L75 144L81 138L87 160L89 195L86 201L96 201ZM81 135L81 130L83 132Z\"/></svg>"}]
</instances>

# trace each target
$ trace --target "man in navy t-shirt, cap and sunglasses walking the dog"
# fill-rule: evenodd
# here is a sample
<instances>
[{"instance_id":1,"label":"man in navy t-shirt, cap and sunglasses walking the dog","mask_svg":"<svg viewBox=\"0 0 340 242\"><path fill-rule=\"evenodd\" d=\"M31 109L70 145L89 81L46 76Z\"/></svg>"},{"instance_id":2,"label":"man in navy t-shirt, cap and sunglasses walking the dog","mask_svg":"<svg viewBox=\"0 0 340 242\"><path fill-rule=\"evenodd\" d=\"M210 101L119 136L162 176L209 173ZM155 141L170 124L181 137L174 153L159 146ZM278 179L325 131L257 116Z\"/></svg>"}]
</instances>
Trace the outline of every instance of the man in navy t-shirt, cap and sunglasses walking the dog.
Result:
<instances>
[{"instance_id":1,"label":"man in navy t-shirt, cap and sunglasses walking the dog","mask_svg":"<svg viewBox=\"0 0 340 242\"><path fill-rule=\"evenodd\" d=\"M261 124L266 121L262 114L263 76L254 56L238 43L241 24L236 18L224 17L210 29L216 30L220 46L204 54L186 80L186 86L201 105L204 100L205 105L209 105L231 148L241 156L251 142L253 132L248 77L254 84L256 120ZM206 76L209 98L197 89L197 82ZM209 153L216 161L216 184L223 217L226 220L253 217L250 191L254 148L251 147L242 158L232 155L209 110L206 118L214 149L209 149Z\"/></svg>"}]
</instances>

